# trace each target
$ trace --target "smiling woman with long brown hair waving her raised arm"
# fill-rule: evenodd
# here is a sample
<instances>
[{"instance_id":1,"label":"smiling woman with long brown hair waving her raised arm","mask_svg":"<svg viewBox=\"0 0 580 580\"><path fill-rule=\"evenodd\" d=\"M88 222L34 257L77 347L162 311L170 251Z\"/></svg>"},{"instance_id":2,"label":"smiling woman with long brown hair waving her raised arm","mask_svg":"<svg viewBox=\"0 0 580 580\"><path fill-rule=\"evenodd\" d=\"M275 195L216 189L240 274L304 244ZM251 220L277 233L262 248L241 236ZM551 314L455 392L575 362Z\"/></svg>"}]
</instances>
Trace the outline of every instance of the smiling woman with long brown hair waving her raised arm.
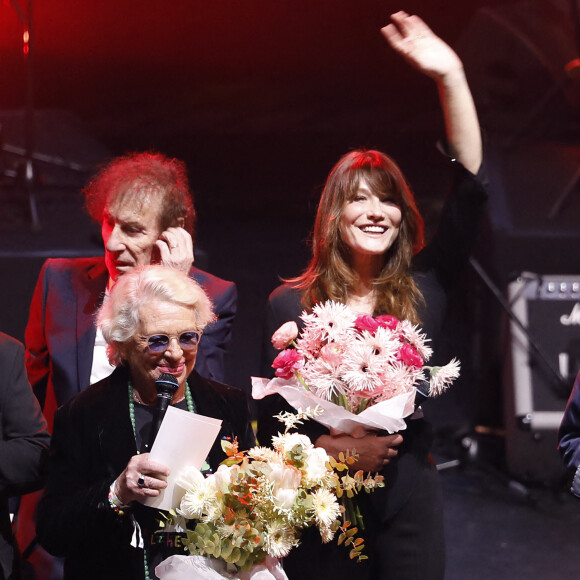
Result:
<instances>
[{"instance_id":1,"label":"smiling woman with long brown hair waving her raised arm","mask_svg":"<svg viewBox=\"0 0 580 580\"><path fill-rule=\"evenodd\" d=\"M328 299L370 315L391 314L421 324L436 339L447 296L467 262L485 206L478 179L482 142L477 113L455 52L417 16L398 12L382 29L389 44L412 66L433 78L446 123L454 183L440 227L423 243L423 221L401 170L378 151L343 156L324 187L304 273L270 296L265 341L303 309ZM434 340L435 342L435 340ZM264 360L275 356L266 346ZM283 408L276 396L260 402L258 439L267 444L278 430L272 415ZM401 433L362 437L331 433L309 422L305 432L331 455L356 449L357 469L380 471L386 487L360 497L369 559L351 564L320 540L306 540L286 562L295 578L442 580L445 545L441 490L430 461L430 427L415 413Z\"/></svg>"}]
</instances>

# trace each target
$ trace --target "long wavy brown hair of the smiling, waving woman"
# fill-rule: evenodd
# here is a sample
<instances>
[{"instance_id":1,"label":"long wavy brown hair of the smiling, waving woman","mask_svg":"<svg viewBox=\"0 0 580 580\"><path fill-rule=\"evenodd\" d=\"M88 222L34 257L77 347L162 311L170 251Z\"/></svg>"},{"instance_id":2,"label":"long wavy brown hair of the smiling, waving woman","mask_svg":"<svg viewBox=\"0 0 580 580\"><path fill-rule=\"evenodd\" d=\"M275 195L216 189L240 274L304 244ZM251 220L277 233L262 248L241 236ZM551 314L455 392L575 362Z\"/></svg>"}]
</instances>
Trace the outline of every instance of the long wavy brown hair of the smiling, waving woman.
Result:
<instances>
[{"instance_id":1,"label":"long wavy brown hair of the smiling, waving woman","mask_svg":"<svg viewBox=\"0 0 580 580\"><path fill-rule=\"evenodd\" d=\"M350 248L342 239L340 221L345 205L355 197L363 179L372 193L392 199L402 214L399 235L385 252L373 283L374 313L392 314L418 324L423 296L411 276L411 260L423 247L423 218L398 165L380 151L351 151L334 166L318 204L312 259L300 276L288 282L302 290L305 308L329 299L347 301L358 274L351 265Z\"/></svg>"}]
</instances>

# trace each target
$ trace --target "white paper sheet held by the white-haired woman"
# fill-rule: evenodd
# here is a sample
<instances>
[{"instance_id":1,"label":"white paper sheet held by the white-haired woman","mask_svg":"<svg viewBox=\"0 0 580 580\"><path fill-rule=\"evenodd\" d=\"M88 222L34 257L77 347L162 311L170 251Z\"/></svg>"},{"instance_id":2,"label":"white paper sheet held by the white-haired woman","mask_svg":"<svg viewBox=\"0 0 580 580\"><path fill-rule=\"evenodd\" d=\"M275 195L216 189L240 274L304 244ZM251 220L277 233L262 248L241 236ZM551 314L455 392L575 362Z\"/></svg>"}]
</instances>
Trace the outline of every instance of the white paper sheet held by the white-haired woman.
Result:
<instances>
[{"instance_id":1,"label":"white paper sheet held by the white-haired woman","mask_svg":"<svg viewBox=\"0 0 580 580\"><path fill-rule=\"evenodd\" d=\"M166 465L171 473L167 478L167 487L157 497L148 498L146 505L162 510L179 506L185 490L175 485L176 479L189 465L201 470L221 424L221 419L168 407L150 459Z\"/></svg>"}]
</instances>

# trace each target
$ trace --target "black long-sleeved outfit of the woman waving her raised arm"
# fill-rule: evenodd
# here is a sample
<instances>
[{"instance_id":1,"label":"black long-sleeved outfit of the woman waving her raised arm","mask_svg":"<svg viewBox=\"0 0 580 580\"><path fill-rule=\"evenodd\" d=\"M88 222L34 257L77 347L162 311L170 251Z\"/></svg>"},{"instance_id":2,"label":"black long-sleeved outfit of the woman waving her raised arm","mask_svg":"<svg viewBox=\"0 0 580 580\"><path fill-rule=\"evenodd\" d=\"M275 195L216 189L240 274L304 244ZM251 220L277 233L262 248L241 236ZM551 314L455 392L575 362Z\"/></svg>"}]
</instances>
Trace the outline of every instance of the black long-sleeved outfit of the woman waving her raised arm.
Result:
<instances>
[{"instance_id":1,"label":"black long-sleeved outfit of the woman waving her raised arm","mask_svg":"<svg viewBox=\"0 0 580 580\"><path fill-rule=\"evenodd\" d=\"M436 342L444 321L450 290L468 261L487 199L479 180L461 165L456 164L456 167L454 185L444 207L439 230L429 245L413 260L413 278L426 303L420 312L421 327L433 343ZM288 284L280 286L270 295L263 343L264 376L272 375L270 365L276 355L270 337L288 320L299 323L301 311L300 292ZM267 445L280 429L280 424L273 419L273 415L283 409L292 409L279 395L270 395L257 401L257 409L258 440L262 445ZM328 433L326 427L315 421L306 421L300 431L313 442L320 435ZM429 457L431 427L424 419L408 420L402 435L403 443L398 447L397 458L390 461L382 471L385 488L369 495L358 496L358 504L367 528L363 533L367 540L364 553L369 559L362 564L355 563L349 560L348 550L344 547L337 547L334 542L322 545L317 534L308 533L308 530L302 538L302 546L293 550L288 557L286 568L290 578L317 580L321 574L330 574L335 580L352 577L376 580L383 573L379 570L382 566L381 559L385 557L385 546L381 543L385 537L384 528L393 527L393 537L399 538L399 545L394 552L400 554L397 552L400 542L403 538L408 538L410 533L405 518L416 517L410 516L409 512L417 511L421 514L421 521L413 522L411 527L417 529L419 526L429 530L426 537L433 539L434 543L437 539L438 544L429 546L429 550L437 554L439 561L431 562L432 566L428 564L427 568L431 570L429 573L433 577L439 577L443 567L444 548L442 530L439 527L442 527L439 483L432 476L434 468ZM408 509L409 505L423 507L412 510ZM431 510L434 517L427 517L428 514L422 512L422 509ZM427 521L431 523L428 524ZM409 546L404 548L407 549ZM416 546L412 548L415 549ZM395 559L397 558L398 561L389 564L394 570L400 570L403 562L400 556ZM305 566L305 562L310 562L310 565ZM399 572L395 574L398 580Z\"/></svg>"}]
</instances>

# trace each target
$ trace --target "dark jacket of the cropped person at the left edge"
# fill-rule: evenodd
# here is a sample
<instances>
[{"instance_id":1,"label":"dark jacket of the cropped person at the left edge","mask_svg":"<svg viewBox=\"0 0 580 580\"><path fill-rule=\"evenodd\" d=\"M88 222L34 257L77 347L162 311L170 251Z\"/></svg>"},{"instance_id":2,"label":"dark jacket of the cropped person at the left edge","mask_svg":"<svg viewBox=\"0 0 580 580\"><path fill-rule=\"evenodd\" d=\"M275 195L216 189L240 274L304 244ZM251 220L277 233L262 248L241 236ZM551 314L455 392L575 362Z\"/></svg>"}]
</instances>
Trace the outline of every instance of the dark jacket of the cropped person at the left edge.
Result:
<instances>
[{"instance_id":1,"label":"dark jacket of the cropped person at the left edge","mask_svg":"<svg viewBox=\"0 0 580 580\"><path fill-rule=\"evenodd\" d=\"M39 489L50 436L26 378L24 347L0 333L0 578L13 573L16 550L8 497Z\"/></svg>"}]
</instances>

